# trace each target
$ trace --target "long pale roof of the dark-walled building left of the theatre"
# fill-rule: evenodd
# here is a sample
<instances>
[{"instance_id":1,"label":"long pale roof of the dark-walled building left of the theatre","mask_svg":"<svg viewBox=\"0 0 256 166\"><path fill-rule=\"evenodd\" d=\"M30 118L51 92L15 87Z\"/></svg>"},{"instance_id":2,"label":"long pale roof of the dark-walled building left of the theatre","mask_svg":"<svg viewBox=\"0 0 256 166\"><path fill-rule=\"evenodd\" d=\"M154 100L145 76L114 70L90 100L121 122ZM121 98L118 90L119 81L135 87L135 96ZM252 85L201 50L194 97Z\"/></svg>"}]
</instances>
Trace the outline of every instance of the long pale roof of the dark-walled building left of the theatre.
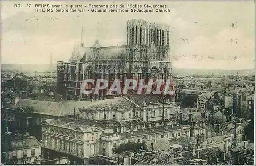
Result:
<instances>
[{"instance_id":1,"label":"long pale roof of the dark-walled building left of the theatre","mask_svg":"<svg viewBox=\"0 0 256 166\"><path fill-rule=\"evenodd\" d=\"M78 108L86 107L94 102L91 101L72 101L72 100L62 100L60 102L51 101L39 101L31 99L18 99L18 103L5 104L6 108L16 109L18 107L22 108L26 112L32 112L38 114L52 115L52 116L67 116L74 114L74 108L76 114L78 114Z\"/></svg>"}]
</instances>

